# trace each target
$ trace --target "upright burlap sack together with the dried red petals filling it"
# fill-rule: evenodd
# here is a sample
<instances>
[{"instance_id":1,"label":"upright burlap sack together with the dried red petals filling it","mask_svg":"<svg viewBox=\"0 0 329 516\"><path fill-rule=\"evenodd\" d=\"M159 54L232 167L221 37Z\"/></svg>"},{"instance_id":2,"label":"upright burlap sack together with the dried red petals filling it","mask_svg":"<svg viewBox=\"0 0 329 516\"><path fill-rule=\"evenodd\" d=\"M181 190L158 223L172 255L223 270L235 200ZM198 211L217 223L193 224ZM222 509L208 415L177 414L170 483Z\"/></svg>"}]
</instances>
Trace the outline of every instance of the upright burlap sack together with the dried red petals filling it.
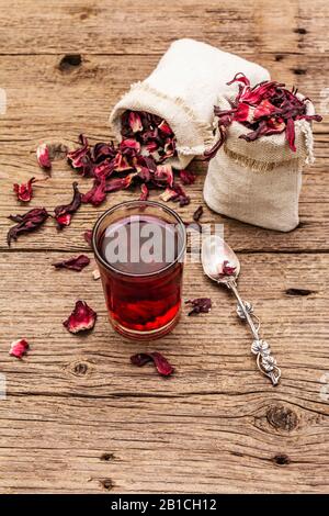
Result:
<instances>
[{"instance_id":1,"label":"upright burlap sack together with the dried red petals filling it","mask_svg":"<svg viewBox=\"0 0 329 516\"><path fill-rule=\"evenodd\" d=\"M204 184L208 206L257 226L288 232L299 222L302 170L314 161L311 101L275 81L256 87L243 74L238 96L219 96L217 143Z\"/></svg>"}]
</instances>

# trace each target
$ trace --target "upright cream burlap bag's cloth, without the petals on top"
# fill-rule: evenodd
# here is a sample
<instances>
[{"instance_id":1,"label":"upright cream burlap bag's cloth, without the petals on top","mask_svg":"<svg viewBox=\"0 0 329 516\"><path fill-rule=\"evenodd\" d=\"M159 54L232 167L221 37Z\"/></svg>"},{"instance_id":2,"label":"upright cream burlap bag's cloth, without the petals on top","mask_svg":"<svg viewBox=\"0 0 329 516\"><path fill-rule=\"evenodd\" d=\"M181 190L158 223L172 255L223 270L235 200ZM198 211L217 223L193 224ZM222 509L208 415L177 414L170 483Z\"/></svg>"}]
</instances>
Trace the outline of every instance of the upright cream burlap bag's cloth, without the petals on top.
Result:
<instances>
[{"instance_id":1,"label":"upright cream burlap bag's cloth, without the petals on top","mask_svg":"<svg viewBox=\"0 0 329 516\"><path fill-rule=\"evenodd\" d=\"M303 98L303 96L299 96ZM307 103L307 114L315 114ZM230 109L220 97L217 105ZM298 198L302 169L314 161L311 124L295 122L296 152L292 152L285 134L262 136L254 142L239 138L250 132L232 122L217 155L211 160L204 183L204 199L217 213L269 229L290 232L299 222Z\"/></svg>"}]
</instances>

